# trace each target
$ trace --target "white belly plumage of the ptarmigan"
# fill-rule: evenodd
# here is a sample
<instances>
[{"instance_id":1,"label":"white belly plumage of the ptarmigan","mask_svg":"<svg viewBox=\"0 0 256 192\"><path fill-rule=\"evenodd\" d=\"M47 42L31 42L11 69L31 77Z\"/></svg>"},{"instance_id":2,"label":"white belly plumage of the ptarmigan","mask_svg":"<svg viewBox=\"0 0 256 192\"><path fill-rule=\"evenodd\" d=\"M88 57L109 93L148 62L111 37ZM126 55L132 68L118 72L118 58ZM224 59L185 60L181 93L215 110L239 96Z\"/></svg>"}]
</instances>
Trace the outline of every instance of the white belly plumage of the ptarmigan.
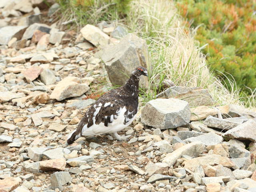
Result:
<instances>
[{"instance_id":1,"label":"white belly plumage of the ptarmigan","mask_svg":"<svg viewBox=\"0 0 256 192\"><path fill-rule=\"evenodd\" d=\"M124 124L124 113L126 112L126 108L122 108L120 110L120 114L117 116L117 119L114 119L112 123L108 124L108 126L104 126L104 123L100 124L93 124L89 128L87 128L87 125L84 125L82 128L82 136L93 136L93 135L100 135L104 133L115 133L118 131L123 130L127 126L129 126L136 115L132 119L130 119L126 124ZM94 120L95 122L95 120Z\"/></svg>"}]
</instances>

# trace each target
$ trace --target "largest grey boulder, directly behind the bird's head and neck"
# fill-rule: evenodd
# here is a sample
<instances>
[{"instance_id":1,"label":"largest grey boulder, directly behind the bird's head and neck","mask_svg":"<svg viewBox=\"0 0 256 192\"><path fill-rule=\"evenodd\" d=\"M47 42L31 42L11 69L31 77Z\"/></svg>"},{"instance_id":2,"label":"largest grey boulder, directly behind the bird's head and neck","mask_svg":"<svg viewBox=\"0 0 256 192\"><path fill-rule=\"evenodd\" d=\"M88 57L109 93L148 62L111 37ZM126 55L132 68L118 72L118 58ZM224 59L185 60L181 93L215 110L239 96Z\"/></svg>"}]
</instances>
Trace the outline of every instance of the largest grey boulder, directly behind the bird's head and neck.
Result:
<instances>
[{"instance_id":1,"label":"largest grey boulder, directly behind the bird's head and neck","mask_svg":"<svg viewBox=\"0 0 256 192\"><path fill-rule=\"evenodd\" d=\"M127 34L118 44L103 49L102 60L108 77L114 85L124 85L134 68L148 64L146 41L134 34ZM148 78L142 76L140 84L148 87Z\"/></svg>"}]
</instances>

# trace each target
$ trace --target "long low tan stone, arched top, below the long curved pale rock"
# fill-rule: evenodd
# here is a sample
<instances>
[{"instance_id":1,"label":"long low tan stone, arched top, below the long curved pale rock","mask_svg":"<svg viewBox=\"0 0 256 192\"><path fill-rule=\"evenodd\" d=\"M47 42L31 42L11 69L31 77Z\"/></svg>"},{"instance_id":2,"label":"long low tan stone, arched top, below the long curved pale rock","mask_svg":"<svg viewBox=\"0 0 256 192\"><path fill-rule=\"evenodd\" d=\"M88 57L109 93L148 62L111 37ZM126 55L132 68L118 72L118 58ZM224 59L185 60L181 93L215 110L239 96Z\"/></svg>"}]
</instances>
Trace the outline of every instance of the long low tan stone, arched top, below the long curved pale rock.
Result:
<instances>
[{"instance_id":1,"label":"long low tan stone, arched top, below the long curved pale rock","mask_svg":"<svg viewBox=\"0 0 256 192\"><path fill-rule=\"evenodd\" d=\"M208 166L208 165L211 165L211 166L222 165L227 168L231 168L235 166L235 164L229 158L222 157L220 155L206 155L202 157L196 157L184 162L184 168L188 168L192 172L196 169L197 166Z\"/></svg>"}]
</instances>

